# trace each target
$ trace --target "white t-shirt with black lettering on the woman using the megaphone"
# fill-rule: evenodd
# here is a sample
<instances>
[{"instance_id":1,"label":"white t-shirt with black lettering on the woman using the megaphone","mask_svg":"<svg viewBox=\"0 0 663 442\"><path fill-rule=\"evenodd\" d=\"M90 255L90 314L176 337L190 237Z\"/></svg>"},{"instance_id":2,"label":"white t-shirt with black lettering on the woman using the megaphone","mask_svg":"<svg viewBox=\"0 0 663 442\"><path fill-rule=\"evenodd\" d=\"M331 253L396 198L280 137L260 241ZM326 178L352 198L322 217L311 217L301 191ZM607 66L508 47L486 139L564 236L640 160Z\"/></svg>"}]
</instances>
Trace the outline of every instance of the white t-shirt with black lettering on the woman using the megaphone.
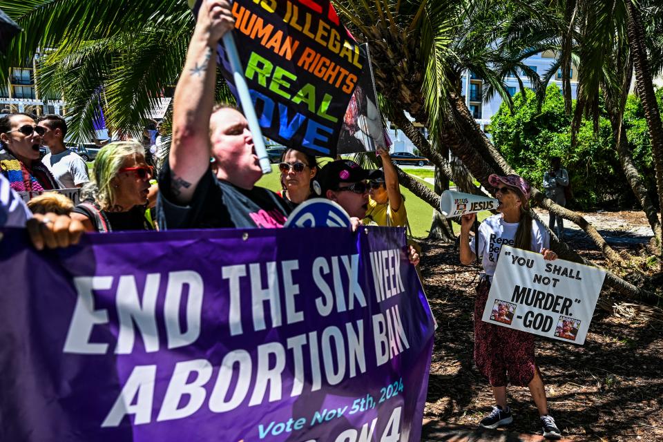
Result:
<instances>
[{"instance_id":1,"label":"white t-shirt with black lettering on the woman using the megaphone","mask_svg":"<svg viewBox=\"0 0 663 442\"><path fill-rule=\"evenodd\" d=\"M502 244L515 247L518 222L504 222L502 214L492 215L479 225L479 256L483 271L492 280L497 267L497 258ZM543 224L532 220L532 244L530 251L540 252L550 247L550 234ZM474 237L470 240L470 250L474 253Z\"/></svg>"}]
</instances>

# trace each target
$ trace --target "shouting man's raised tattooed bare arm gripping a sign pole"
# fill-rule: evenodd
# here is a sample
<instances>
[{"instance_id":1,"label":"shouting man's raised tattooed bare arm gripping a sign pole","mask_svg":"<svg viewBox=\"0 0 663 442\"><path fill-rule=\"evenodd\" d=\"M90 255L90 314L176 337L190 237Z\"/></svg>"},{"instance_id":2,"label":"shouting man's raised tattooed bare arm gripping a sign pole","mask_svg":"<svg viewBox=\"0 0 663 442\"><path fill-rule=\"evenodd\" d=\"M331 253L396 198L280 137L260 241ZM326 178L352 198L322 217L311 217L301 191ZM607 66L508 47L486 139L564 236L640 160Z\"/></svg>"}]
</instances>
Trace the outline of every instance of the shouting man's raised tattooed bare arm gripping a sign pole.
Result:
<instances>
[{"instance_id":1,"label":"shouting man's raised tattooed bare arm gripping a sign pole","mask_svg":"<svg viewBox=\"0 0 663 442\"><path fill-rule=\"evenodd\" d=\"M214 105L216 44L233 28L228 0L203 0L173 100L169 154L173 202L187 204L209 169L209 117Z\"/></svg>"}]
</instances>

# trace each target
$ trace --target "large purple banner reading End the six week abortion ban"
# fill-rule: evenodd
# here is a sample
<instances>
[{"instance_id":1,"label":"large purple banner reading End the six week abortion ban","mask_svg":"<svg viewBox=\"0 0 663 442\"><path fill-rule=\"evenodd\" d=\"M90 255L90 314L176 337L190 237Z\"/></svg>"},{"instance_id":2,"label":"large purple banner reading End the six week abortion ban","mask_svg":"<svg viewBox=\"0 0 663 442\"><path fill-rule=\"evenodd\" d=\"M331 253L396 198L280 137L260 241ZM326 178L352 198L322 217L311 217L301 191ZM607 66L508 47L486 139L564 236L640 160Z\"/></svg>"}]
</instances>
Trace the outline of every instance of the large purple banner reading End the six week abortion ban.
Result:
<instances>
[{"instance_id":1,"label":"large purple banner reading End the six week abortion ban","mask_svg":"<svg viewBox=\"0 0 663 442\"><path fill-rule=\"evenodd\" d=\"M434 329L403 229L3 233L3 441L421 437Z\"/></svg>"}]
</instances>

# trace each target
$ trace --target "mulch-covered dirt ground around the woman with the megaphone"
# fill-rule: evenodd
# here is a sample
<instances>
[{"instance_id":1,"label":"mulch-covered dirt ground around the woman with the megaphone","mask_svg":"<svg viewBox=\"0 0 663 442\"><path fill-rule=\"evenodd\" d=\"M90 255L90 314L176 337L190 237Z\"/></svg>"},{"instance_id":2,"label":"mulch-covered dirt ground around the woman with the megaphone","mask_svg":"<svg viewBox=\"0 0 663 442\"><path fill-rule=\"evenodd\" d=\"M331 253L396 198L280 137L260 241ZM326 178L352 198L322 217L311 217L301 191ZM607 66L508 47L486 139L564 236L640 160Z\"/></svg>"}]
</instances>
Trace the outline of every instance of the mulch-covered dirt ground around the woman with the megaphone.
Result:
<instances>
[{"instance_id":1,"label":"mulch-covered dirt ground around the woman with the megaphone","mask_svg":"<svg viewBox=\"0 0 663 442\"><path fill-rule=\"evenodd\" d=\"M642 213L588 213L599 231L611 231L619 250L642 249ZM548 220L547 215L543 217ZM646 230L646 229L645 229ZM600 253L582 232L568 244L586 258ZM602 232L603 233L603 232ZM649 233L651 235L651 231ZM430 369L425 418L477 425L494 404L490 385L472 361L472 311L479 267L459 264L453 244L423 242L421 273L439 324ZM602 292L602 298L607 298ZM663 441L663 325L651 318L619 318L597 309L585 344L541 338L537 363L551 413L564 436L579 441ZM509 389L514 423L509 430L537 434L538 413L525 387ZM540 433L539 433L540 434Z\"/></svg>"}]
</instances>

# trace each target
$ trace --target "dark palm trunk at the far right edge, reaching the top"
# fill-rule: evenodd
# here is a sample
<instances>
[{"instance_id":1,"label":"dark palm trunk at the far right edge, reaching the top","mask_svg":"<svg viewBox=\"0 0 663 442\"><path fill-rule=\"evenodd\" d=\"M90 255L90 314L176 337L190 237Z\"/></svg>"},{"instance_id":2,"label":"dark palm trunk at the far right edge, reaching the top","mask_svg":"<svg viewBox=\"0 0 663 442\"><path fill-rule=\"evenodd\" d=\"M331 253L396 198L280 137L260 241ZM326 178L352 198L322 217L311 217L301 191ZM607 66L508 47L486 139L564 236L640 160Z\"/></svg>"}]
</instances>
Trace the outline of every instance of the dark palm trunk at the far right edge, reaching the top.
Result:
<instances>
[{"instance_id":1,"label":"dark palm trunk at the far right edge, reaching the top","mask_svg":"<svg viewBox=\"0 0 663 442\"><path fill-rule=\"evenodd\" d=\"M644 45L644 28L640 11L631 1L626 1L628 44L633 55L633 66L635 67L635 81L640 93L640 100L644 108L644 117L649 128L651 138L651 156L654 160L656 171L656 186L659 198L659 207L663 211L663 124L658 110L654 86L651 79L651 71L647 60ZM663 247L663 244L662 244ZM663 250L662 250L663 254ZM662 262L663 266L663 262Z\"/></svg>"}]
</instances>

